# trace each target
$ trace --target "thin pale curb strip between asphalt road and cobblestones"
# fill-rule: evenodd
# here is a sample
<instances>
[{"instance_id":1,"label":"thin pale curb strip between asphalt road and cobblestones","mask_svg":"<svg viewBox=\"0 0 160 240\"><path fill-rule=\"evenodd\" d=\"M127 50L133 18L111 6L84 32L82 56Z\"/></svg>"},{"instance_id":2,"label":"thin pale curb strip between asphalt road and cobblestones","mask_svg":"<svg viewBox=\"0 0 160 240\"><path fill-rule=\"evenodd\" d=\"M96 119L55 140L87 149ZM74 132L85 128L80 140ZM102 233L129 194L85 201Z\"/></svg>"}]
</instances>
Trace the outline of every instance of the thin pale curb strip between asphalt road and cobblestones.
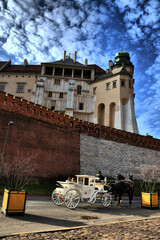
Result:
<instances>
[{"instance_id":1,"label":"thin pale curb strip between asphalt road and cobblestones","mask_svg":"<svg viewBox=\"0 0 160 240\"><path fill-rule=\"evenodd\" d=\"M6 238L6 237L12 237L16 235L24 235L24 234L34 234L34 233L46 233L46 232L60 232L60 231L70 231L75 229L81 229L81 228L89 228L89 227L96 227L96 226L105 226L105 225L111 225L111 224L117 224L117 223L127 223L127 222L135 222L135 221L143 221L143 220L150 220L150 219L158 219L160 216L156 217L148 217L148 218L137 218L137 219L130 219L130 220L121 220L121 221L114 221L109 223L101 223L101 224L92 224L87 226L78 226L78 227L66 227L66 228L58 228L58 229L47 229L47 230L40 230L40 231L30 231L30 232L20 232L20 233L12 233L7 235L0 236L0 239Z\"/></svg>"}]
</instances>

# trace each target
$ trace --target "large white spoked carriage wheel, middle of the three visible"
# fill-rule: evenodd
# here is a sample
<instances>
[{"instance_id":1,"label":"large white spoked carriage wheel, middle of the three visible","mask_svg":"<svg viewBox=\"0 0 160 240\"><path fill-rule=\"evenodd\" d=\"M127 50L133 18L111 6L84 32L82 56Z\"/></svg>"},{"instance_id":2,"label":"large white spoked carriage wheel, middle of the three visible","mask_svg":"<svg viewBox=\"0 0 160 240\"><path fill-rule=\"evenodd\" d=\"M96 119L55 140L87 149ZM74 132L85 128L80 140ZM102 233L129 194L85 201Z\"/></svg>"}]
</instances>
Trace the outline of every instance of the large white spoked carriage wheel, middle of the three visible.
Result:
<instances>
[{"instance_id":1,"label":"large white spoked carriage wheel, middle of the three visible","mask_svg":"<svg viewBox=\"0 0 160 240\"><path fill-rule=\"evenodd\" d=\"M70 189L64 196L64 202L67 208L74 209L80 202L80 194L76 189Z\"/></svg>"}]
</instances>

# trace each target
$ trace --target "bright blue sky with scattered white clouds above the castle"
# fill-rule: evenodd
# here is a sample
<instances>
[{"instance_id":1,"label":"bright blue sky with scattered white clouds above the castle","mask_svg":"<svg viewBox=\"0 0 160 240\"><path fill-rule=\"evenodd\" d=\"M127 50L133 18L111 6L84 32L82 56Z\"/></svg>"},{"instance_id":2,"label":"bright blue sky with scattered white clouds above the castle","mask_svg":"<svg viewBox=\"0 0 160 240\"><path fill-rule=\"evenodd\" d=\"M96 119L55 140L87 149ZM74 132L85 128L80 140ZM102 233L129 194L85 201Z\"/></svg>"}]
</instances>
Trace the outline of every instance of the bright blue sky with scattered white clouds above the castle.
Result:
<instances>
[{"instance_id":1,"label":"bright blue sky with scattered white clouds above the castle","mask_svg":"<svg viewBox=\"0 0 160 240\"><path fill-rule=\"evenodd\" d=\"M107 69L121 48L135 67L139 133L160 139L159 0L0 0L0 61L40 64L66 50Z\"/></svg>"}]
</instances>

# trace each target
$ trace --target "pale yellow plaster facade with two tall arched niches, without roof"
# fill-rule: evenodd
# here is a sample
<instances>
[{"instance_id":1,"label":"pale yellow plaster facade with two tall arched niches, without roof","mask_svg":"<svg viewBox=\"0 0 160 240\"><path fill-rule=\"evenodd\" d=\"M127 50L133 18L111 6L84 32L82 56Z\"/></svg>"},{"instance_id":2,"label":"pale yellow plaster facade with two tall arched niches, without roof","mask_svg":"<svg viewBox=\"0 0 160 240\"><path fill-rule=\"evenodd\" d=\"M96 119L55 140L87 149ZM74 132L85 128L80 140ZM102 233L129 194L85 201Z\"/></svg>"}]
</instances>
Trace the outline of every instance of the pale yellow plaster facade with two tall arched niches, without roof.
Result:
<instances>
[{"instance_id":1,"label":"pale yellow plaster facade with two tall arched niches, without roof","mask_svg":"<svg viewBox=\"0 0 160 240\"><path fill-rule=\"evenodd\" d=\"M121 81L124 81L124 86L122 86ZM114 83L116 83L116 87L114 87ZM107 88L108 84L110 87ZM115 127L115 116L113 117L113 114L118 113L121 105L127 104L129 98L132 98L132 101L134 101L133 79L126 75L117 74L116 76L93 82L90 84L90 87L91 95L95 100L94 122ZM94 89L96 89L96 93ZM115 108L114 111L113 107Z\"/></svg>"}]
</instances>

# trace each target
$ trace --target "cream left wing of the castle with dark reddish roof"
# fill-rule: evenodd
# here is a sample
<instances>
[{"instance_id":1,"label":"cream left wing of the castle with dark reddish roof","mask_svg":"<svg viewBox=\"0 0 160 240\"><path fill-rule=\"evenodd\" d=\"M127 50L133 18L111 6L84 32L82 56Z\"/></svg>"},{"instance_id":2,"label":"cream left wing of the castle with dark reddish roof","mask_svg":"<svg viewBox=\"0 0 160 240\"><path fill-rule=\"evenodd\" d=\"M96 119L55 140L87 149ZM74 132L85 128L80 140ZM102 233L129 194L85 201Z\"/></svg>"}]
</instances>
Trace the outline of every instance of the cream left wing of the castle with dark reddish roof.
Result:
<instances>
[{"instance_id":1,"label":"cream left wing of the castle with dark reddish roof","mask_svg":"<svg viewBox=\"0 0 160 240\"><path fill-rule=\"evenodd\" d=\"M41 73L41 65L12 65L11 60L0 62L0 91L31 100L33 86Z\"/></svg>"}]
</instances>

